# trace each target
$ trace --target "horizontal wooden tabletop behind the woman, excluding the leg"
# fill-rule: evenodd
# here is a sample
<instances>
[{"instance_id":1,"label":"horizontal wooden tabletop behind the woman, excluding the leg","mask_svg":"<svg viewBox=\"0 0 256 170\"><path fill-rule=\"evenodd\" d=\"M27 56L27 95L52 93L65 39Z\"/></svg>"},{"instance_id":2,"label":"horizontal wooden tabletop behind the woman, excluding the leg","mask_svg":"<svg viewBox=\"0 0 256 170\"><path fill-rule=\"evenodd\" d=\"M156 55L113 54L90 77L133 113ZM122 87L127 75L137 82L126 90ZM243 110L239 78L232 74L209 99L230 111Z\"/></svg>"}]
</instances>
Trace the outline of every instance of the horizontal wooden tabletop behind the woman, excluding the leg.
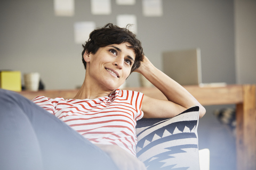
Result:
<instances>
[{"instance_id":1,"label":"horizontal wooden tabletop behind the woman, excluding the leg","mask_svg":"<svg viewBox=\"0 0 256 170\"><path fill-rule=\"evenodd\" d=\"M240 85L228 85L225 87L199 87L184 86L202 105L225 105L238 104L243 102L243 88ZM140 91L143 94L158 98L166 97L155 87L150 88L125 88L127 90ZM73 98L78 90L42 90L42 91L21 91L21 95L32 100L36 96L42 95L50 98L63 97L65 99Z\"/></svg>"}]
</instances>

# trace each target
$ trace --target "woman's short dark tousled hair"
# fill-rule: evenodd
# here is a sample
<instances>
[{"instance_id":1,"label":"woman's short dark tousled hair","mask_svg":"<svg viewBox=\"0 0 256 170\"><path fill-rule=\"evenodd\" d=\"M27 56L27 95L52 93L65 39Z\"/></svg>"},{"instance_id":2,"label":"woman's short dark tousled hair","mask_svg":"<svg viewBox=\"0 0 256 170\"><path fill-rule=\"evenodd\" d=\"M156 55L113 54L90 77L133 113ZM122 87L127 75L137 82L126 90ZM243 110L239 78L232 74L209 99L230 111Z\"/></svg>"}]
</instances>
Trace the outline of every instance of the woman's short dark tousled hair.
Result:
<instances>
[{"instance_id":1,"label":"woman's short dark tousled hair","mask_svg":"<svg viewBox=\"0 0 256 170\"><path fill-rule=\"evenodd\" d=\"M143 61L144 53L141 47L141 42L136 38L136 35L126 28L120 28L112 23L106 24L104 27L95 29L90 33L88 41L83 45L82 61L86 69L86 62L84 61L84 53L95 54L100 47L106 47L111 44L130 43L129 48L134 49L135 60L131 72L140 67L140 62Z\"/></svg>"}]
</instances>

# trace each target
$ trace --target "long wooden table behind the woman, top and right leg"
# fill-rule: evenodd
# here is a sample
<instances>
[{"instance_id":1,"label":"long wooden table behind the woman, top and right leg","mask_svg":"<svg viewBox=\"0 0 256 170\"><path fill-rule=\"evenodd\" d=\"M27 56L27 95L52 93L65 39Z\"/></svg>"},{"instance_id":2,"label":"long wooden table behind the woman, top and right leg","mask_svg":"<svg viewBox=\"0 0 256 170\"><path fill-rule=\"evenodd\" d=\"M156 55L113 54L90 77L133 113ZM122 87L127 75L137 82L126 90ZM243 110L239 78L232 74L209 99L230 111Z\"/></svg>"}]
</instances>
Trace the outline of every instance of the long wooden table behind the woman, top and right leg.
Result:
<instances>
[{"instance_id":1,"label":"long wooden table behind the woman, top and right leg","mask_svg":"<svg viewBox=\"0 0 256 170\"><path fill-rule=\"evenodd\" d=\"M256 109L255 85L228 85L223 87L184 86L202 105L236 105L237 170L256 169ZM143 94L166 99L156 88L126 88ZM78 90L22 91L21 95L33 99L38 95L50 98L73 98Z\"/></svg>"}]
</instances>

